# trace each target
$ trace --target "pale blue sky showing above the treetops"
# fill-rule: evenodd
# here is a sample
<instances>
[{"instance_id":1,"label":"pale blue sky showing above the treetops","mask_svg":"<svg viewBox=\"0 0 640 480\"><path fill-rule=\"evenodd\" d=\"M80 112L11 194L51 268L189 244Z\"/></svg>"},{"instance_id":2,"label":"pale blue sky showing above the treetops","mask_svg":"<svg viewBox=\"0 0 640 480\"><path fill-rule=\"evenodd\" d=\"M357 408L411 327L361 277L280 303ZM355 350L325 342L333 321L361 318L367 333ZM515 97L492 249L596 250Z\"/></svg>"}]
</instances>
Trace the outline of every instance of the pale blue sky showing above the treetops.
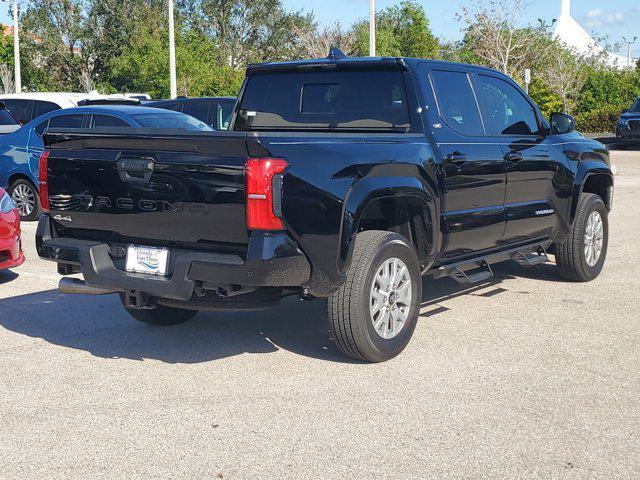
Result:
<instances>
[{"instance_id":1,"label":"pale blue sky showing above the treetops","mask_svg":"<svg viewBox=\"0 0 640 480\"><path fill-rule=\"evenodd\" d=\"M340 22L344 26L368 17L369 0L283 0L292 10L313 11L322 24ZM383 9L399 0L376 0L376 8ZM455 15L469 0L417 0L427 12L434 34L445 40L461 37L460 24ZM561 0L530 0L529 16L547 22L560 15ZM0 22L12 25L11 2L0 2ZM640 0L573 0L573 17L596 38L606 37L608 43L622 41L622 37L640 37ZM632 47L640 57L640 38ZM626 55L626 47L623 51Z\"/></svg>"}]
</instances>

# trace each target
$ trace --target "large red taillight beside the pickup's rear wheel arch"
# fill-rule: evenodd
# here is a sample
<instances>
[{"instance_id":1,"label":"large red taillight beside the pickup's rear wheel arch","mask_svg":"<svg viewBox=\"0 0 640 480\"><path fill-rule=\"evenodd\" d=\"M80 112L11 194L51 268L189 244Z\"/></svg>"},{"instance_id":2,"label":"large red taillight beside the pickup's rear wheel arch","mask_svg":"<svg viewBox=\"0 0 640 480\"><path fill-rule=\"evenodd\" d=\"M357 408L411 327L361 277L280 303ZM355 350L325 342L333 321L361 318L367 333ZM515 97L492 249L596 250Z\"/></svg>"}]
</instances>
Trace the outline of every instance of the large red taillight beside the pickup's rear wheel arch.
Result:
<instances>
[{"instance_id":1,"label":"large red taillight beside the pickup's rear wheel arch","mask_svg":"<svg viewBox=\"0 0 640 480\"><path fill-rule=\"evenodd\" d=\"M287 168L280 158L247 160L247 228L283 230L280 220L280 174Z\"/></svg>"}]
</instances>

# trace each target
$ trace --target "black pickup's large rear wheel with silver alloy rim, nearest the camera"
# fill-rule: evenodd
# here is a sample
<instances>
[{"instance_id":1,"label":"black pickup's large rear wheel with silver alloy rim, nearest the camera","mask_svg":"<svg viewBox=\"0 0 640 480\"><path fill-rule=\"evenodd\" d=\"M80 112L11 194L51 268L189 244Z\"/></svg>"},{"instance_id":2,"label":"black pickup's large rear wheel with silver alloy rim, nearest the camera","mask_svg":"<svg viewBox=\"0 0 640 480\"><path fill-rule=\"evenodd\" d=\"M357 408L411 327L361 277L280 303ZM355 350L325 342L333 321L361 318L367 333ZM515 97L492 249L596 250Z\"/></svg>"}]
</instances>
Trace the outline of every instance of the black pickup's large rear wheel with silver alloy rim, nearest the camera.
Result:
<instances>
[{"instance_id":1,"label":"black pickup's large rear wheel with silver alloy rim, nearest the camera","mask_svg":"<svg viewBox=\"0 0 640 480\"><path fill-rule=\"evenodd\" d=\"M407 346L422 302L415 249L402 235L357 235L347 281L328 299L333 338L342 353L384 362Z\"/></svg>"}]
</instances>

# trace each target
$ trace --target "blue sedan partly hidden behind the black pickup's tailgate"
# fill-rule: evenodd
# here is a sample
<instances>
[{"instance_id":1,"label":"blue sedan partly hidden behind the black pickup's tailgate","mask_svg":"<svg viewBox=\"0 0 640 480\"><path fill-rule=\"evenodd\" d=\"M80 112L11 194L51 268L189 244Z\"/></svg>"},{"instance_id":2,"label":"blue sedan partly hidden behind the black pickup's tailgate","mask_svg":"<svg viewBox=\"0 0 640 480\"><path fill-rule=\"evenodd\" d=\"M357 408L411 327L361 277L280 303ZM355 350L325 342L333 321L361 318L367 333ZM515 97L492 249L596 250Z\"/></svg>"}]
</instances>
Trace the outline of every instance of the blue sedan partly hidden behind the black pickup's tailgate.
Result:
<instances>
[{"instance_id":1,"label":"blue sedan partly hidden behind the black pickup's tailgate","mask_svg":"<svg viewBox=\"0 0 640 480\"><path fill-rule=\"evenodd\" d=\"M180 112L140 106L100 105L46 113L15 132L0 134L0 187L16 205L23 220L40 215L38 163L47 128L132 127L212 131L200 120Z\"/></svg>"}]
</instances>

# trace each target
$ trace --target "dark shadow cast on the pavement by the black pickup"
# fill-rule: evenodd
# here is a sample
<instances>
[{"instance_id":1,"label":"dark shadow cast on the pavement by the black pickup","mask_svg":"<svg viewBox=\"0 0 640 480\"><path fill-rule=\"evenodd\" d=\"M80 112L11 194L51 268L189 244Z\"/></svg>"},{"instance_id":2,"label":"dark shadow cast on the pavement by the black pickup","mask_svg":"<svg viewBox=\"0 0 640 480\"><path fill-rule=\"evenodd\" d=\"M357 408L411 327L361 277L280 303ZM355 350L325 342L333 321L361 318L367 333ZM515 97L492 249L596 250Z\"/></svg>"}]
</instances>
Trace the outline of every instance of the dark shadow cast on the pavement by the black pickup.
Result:
<instances>
[{"instance_id":1,"label":"dark shadow cast on the pavement by the black pickup","mask_svg":"<svg viewBox=\"0 0 640 480\"><path fill-rule=\"evenodd\" d=\"M522 270L507 264L496 268L492 281L480 285L424 279L420 321L430 321L431 317L449 311L447 301L452 298L469 295L470 301L476 301L477 297L490 298L507 292L508 280L516 276L551 281L557 278L553 266ZM0 299L0 326L101 358L192 364L284 349L319 360L358 363L342 355L329 340L326 303L300 301L295 297L269 310L203 312L183 325L162 328L130 318L114 295L76 296L48 290Z\"/></svg>"}]
</instances>

